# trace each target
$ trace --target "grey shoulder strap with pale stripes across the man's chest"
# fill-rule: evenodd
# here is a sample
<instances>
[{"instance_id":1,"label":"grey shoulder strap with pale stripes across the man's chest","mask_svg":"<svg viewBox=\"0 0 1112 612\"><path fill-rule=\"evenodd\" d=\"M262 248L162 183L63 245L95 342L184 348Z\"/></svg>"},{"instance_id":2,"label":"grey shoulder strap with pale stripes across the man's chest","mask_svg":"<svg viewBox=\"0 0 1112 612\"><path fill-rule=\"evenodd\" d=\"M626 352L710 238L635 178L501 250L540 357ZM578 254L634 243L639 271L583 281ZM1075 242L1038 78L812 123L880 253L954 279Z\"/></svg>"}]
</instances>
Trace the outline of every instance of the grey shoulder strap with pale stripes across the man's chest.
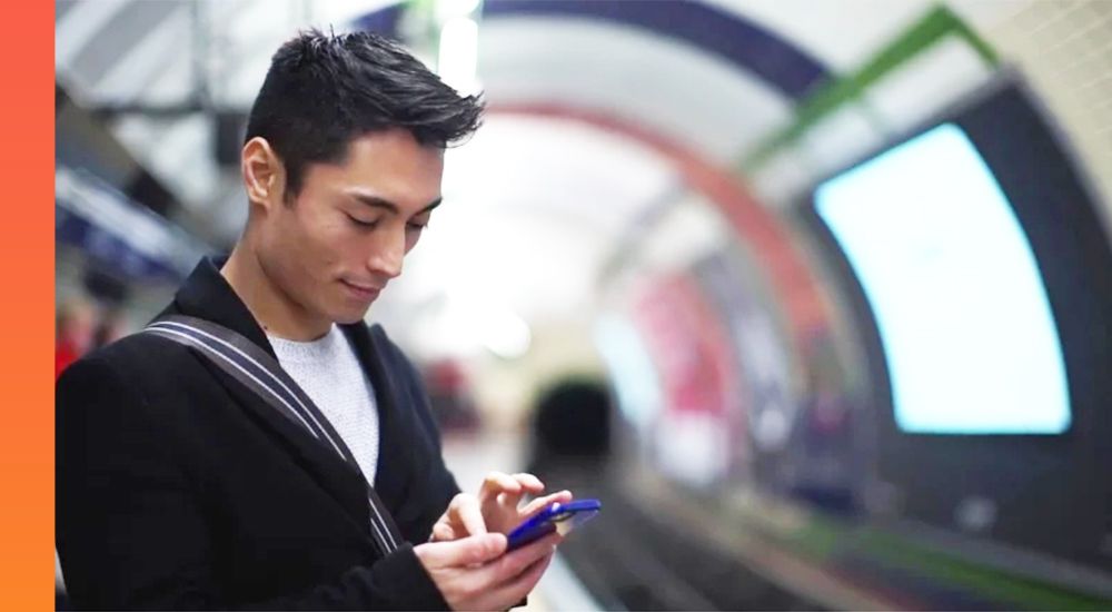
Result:
<instances>
[{"instance_id":1,"label":"grey shoulder strap with pale stripes across the man's chest","mask_svg":"<svg viewBox=\"0 0 1112 612\"><path fill-rule=\"evenodd\" d=\"M148 325L143 333L197 349L214 365L251 389L267 405L332 448L344 462L363 475L351 451L312 399L282 369L278 359L252 342L222 325L183 315L165 316ZM364 482L370 504L370 532L385 556L397 550L403 542L401 534L374 486L366 477Z\"/></svg>"}]
</instances>

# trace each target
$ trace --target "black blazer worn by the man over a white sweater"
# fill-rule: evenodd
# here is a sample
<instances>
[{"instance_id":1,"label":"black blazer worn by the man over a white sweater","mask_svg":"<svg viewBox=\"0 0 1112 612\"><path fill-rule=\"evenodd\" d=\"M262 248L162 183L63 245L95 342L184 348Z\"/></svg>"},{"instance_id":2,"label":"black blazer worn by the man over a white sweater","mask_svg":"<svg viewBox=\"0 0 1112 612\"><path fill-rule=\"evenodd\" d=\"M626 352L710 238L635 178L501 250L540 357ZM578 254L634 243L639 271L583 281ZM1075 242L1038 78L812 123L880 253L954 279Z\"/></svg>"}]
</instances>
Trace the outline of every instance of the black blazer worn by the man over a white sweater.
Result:
<instances>
[{"instance_id":1,"label":"black blazer worn by the man over a white sweater","mask_svg":"<svg viewBox=\"0 0 1112 612\"><path fill-rule=\"evenodd\" d=\"M166 313L265 333L205 259ZM413 365L379 326L342 326L371 384L375 490L409 542L458 493ZM57 545L79 609L446 609L413 552L380 557L363 477L177 343L137 334L58 382Z\"/></svg>"}]
</instances>

